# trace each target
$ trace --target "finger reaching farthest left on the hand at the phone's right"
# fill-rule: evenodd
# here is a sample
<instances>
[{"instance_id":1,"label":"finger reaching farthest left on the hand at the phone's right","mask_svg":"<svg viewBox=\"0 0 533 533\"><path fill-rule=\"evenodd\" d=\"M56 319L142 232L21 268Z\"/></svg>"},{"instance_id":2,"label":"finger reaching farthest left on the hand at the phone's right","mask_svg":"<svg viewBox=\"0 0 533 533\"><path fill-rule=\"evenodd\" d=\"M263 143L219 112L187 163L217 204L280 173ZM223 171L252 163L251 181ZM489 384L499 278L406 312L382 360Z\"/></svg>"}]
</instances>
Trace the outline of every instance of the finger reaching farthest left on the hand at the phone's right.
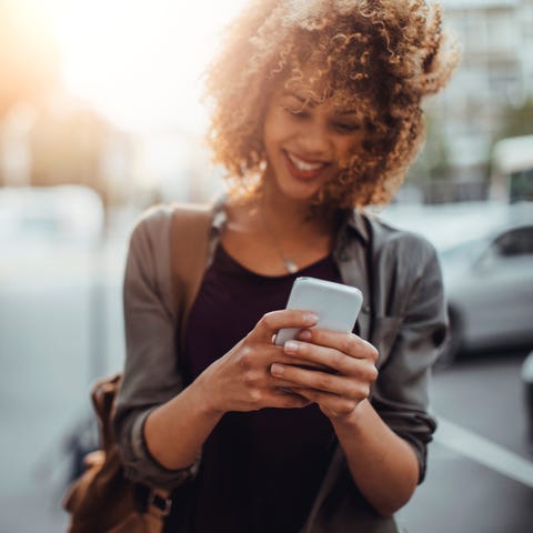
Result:
<instances>
[{"instance_id":1,"label":"finger reaching farthest left on the hand at the phone's right","mask_svg":"<svg viewBox=\"0 0 533 533\"><path fill-rule=\"evenodd\" d=\"M369 382L344 375L311 371L280 363L272 364L271 373L274 378L292 383L292 386L329 392L349 400L360 401L370 394Z\"/></svg>"}]
</instances>

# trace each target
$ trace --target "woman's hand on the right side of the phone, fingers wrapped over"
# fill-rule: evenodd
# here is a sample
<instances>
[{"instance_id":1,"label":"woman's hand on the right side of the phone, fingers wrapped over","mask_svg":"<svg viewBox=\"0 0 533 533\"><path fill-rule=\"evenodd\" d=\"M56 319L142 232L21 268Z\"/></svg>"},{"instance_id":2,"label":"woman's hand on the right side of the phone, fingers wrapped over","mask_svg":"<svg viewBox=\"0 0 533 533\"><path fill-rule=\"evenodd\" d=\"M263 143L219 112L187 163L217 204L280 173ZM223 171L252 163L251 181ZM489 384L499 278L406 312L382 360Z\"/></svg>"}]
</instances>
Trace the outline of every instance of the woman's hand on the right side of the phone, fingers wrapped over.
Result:
<instances>
[{"instance_id":1,"label":"woman's hand on the right side of the phone, fingers wrapped over","mask_svg":"<svg viewBox=\"0 0 533 533\"><path fill-rule=\"evenodd\" d=\"M298 358L292 364L273 363L271 373L298 394L316 402L330 419L342 419L353 413L370 394L370 385L378 378L378 350L350 333L325 330L303 330L299 339L284 345L286 355ZM331 371L308 370L308 364L328 366ZM286 383L289 382L289 385Z\"/></svg>"}]
</instances>

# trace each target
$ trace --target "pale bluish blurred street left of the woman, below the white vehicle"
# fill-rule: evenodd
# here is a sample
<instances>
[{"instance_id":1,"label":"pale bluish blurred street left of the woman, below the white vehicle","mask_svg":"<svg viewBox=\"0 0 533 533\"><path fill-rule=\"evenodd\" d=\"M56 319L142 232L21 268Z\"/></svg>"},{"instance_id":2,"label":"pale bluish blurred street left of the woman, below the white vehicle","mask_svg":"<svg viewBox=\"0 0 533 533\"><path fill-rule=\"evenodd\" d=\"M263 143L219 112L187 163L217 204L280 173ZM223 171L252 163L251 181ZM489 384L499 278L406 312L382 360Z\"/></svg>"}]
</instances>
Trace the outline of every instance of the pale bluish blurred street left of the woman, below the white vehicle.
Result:
<instances>
[{"instance_id":1,"label":"pale bluish blurred street left of the woman, below the white vehicle","mask_svg":"<svg viewBox=\"0 0 533 533\"><path fill-rule=\"evenodd\" d=\"M125 244L2 250L1 533L66 531L69 438L92 416L94 378L122 365Z\"/></svg>"}]
</instances>

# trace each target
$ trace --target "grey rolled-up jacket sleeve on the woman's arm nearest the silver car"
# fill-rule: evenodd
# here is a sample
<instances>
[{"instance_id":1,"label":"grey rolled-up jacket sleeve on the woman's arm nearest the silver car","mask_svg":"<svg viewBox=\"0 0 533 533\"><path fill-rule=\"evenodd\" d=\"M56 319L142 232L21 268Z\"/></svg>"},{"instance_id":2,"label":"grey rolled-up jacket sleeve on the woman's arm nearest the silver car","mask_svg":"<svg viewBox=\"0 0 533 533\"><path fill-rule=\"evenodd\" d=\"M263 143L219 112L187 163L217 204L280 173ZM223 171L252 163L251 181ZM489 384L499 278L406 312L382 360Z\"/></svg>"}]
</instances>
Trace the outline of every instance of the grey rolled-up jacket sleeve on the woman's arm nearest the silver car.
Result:
<instances>
[{"instance_id":1,"label":"grey rolled-up jacket sleeve on the woman's arm nearest the silver car","mask_svg":"<svg viewBox=\"0 0 533 533\"><path fill-rule=\"evenodd\" d=\"M398 270L391 269L391 254L396 254ZM398 261L402 254L409 261ZM428 413L430 372L447 326L441 270L434 248L409 233L402 233L382 260L388 266L378 293L386 315L376 316L372 335L380 359L371 400L384 422L413 446L422 482L426 445L436 429Z\"/></svg>"}]
</instances>

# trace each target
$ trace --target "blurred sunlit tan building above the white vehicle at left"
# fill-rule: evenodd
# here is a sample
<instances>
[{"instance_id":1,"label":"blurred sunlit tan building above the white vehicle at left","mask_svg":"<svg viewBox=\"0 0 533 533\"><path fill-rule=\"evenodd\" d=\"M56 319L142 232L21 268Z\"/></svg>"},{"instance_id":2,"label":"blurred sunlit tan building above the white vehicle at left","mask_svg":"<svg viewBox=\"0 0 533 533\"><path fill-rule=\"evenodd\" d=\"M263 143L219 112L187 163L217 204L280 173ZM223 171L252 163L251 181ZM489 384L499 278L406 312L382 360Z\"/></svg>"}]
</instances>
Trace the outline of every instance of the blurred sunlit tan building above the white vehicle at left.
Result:
<instances>
[{"instance_id":1,"label":"blurred sunlit tan building above the white vehicle at left","mask_svg":"<svg viewBox=\"0 0 533 533\"><path fill-rule=\"evenodd\" d=\"M132 193L133 164L130 135L72 97L18 103L0 120L0 187L87 185L109 207Z\"/></svg>"}]
</instances>

